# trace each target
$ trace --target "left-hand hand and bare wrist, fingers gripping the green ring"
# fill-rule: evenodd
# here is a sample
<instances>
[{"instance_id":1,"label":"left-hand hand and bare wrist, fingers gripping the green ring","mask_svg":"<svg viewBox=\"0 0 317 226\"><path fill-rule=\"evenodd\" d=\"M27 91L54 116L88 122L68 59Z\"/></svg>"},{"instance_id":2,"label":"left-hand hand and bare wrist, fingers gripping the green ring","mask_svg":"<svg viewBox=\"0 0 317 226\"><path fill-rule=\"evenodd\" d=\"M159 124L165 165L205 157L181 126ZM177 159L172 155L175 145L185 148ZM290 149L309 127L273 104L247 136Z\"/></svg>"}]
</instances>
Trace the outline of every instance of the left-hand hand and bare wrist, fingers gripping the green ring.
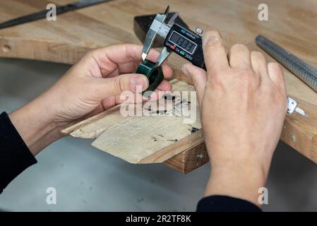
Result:
<instances>
[{"instance_id":1,"label":"left-hand hand and bare wrist, fingers gripping the green ring","mask_svg":"<svg viewBox=\"0 0 317 226\"><path fill-rule=\"evenodd\" d=\"M36 155L56 141L66 126L118 104L122 92L136 93L136 85L146 90L148 78L134 73L141 62L141 49L136 44L119 44L92 50L52 88L9 114L31 152ZM158 56L151 50L148 59L155 61ZM167 64L162 69L165 78L172 76ZM168 91L171 85L163 81L157 89Z\"/></svg>"}]
</instances>

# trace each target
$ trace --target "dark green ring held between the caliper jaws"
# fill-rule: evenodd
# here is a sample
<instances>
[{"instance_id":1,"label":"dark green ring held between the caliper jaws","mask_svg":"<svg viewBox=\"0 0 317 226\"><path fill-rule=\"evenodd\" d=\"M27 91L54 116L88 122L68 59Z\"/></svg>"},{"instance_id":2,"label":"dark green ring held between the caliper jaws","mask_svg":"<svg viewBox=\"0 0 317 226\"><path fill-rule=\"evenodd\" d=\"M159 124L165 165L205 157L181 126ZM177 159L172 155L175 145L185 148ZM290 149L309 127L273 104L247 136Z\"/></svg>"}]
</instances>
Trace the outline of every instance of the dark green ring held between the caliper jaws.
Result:
<instances>
[{"instance_id":1,"label":"dark green ring held between the caliper jaws","mask_svg":"<svg viewBox=\"0 0 317 226\"><path fill-rule=\"evenodd\" d=\"M140 64L140 66L138 66L136 73L141 73L148 77L149 86L148 89L144 91L144 93L146 91L154 91L164 80L162 66L157 67L155 66L155 63L146 59Z\"/></svg>"}]
</instances>

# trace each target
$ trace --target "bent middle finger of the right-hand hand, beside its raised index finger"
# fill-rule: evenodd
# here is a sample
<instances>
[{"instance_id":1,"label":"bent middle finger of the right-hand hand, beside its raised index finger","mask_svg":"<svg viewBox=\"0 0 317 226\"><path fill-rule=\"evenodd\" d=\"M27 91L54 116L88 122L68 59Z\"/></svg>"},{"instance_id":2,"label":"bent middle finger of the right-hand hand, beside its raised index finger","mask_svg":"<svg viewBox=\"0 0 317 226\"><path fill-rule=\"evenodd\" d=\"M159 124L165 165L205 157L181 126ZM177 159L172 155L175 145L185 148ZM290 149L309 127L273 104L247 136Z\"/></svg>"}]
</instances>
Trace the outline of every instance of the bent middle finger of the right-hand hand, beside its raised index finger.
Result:
<instances>
[{"instance_id":1,"label":"bent middle finger of the right-hand hand, beside its raised index finger","mask_svg":"<svg viewBox=\"0 0 317 226\"><path fill-rule=\"evenodd\" d=\"M228 57L233 69L251 69L251 53L244 44L234 44L229 50Z\"/></svg>"}]
</instances>

